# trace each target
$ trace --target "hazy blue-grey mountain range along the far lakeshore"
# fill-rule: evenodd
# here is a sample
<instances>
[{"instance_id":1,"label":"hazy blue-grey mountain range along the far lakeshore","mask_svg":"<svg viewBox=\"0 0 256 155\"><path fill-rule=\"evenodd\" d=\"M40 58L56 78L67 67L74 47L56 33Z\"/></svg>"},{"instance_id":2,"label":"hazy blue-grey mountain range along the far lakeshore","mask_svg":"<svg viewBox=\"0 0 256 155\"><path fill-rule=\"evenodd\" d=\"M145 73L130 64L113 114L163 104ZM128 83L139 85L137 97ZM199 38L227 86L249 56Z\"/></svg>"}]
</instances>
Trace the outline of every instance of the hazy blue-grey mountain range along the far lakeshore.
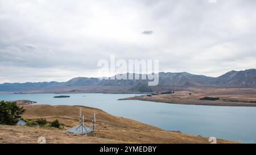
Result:
<instances>
[{"instance_id":1,"label":"hazy blue-grey mountain range along the far lakeshore","mask_svg":"<svg viewBox=\"0 0 256 155\"><path fill-rule=\"evenodd\" d=\"M142 76L126 73L126 76ZM30 93L144 93L171 90L175 87L256 87L256 69L230 71L220 77L208 77L187 72L159 73L159 85L147 86L148 79L101 79L76 77L67 82L3 83L0 92Z\"/></svg>"}]
</instances>

